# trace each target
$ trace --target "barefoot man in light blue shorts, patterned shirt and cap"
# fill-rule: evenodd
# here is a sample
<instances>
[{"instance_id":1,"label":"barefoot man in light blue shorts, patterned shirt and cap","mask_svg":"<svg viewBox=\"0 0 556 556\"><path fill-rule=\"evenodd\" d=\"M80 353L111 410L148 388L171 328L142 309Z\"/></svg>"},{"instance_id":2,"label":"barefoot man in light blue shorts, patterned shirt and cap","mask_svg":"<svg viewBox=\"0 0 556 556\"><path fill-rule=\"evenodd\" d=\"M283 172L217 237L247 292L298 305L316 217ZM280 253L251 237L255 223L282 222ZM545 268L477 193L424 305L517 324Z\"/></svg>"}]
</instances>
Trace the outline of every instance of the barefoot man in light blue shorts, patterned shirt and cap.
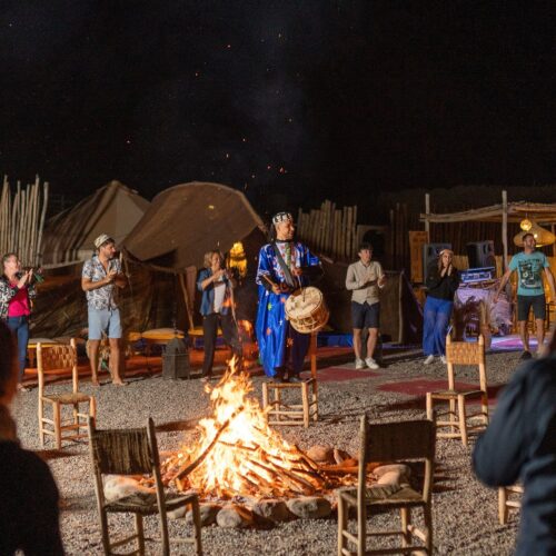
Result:
<instances>
[{"instance_id":1,"label":"barefoot man in light blue shorts, patterned shirt and cap","mask_svg":"<svg viewBox=\"0 0 556 556\"><path fill-rule=\"evenodd\" d=\"M99 385L99 346L102 332L108 335L110 342L110 374L112 384L123 386L120 376L120 310L116 301L119 288L128 284L121 265L115 258L116 245L107 234L101 234L95 240L97 255L83 265L81 288L86 292L89 312L89 360L91 363L92 384Z\"/></svg>"}]
</instances>

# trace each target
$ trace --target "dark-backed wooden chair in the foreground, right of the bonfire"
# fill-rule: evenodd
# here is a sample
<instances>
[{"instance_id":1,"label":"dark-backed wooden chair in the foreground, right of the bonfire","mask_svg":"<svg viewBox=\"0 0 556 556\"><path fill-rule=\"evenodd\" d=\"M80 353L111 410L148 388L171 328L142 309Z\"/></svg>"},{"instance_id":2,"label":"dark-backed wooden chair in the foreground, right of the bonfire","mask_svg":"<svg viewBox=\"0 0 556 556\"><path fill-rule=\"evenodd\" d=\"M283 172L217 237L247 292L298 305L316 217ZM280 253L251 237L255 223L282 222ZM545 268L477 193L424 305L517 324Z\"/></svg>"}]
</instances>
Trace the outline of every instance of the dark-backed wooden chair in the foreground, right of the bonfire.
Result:
<instances>
[{"instance_id":1,"label":"dark-backed wooden chair in the foreground, right of the bonfire","mask_svg":"<svg viewBox=\"0 0 556 556\"><path fill-rule=\"evenodd\" d=\"M435 425L431 420L409 420L369 425L361 418L361 449L359 474L356 487L340 488L338 497L338 556L364 554L409 554L421 550L433 553L433 513L431 487L435 463ZM420 459L424 465L423 486L415 490L408 486L367 485L367 463L391 463L393 460ZM348 513L357 508L357 528L348 529ZM411 510L421 508L425 528L411 523ZM401 527L394 530L367 532L367 510L399 509ZM367 550L367 537L400 536L401 545L396 548L376 548ZM416 538L420 543L414 544ZM349 550L349 543L357 546Z\"/></svg>"}]
</instances>

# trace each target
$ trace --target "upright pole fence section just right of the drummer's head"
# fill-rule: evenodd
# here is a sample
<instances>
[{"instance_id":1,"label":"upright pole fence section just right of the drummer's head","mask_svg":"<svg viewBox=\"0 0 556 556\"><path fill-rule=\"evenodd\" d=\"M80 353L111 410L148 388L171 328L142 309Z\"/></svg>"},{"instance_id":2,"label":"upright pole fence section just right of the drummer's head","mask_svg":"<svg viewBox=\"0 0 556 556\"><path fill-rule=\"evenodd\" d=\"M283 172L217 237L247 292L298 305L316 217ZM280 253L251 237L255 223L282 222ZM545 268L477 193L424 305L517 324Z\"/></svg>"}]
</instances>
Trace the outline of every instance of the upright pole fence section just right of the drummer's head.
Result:
<instances>
[{"instance_id":1,"label":"upright pole fence section just right of the drummer's head","mask_svg":"<svg viewBox=\"0 0 556 556\"><path fill-rule=\"evenodd\" d=\"M335 202L325 200L320 209L309 214L299 208L297 234L315 251L335 260L357 258L357 206L336 208Z\"/></svg>"}]
</instances>

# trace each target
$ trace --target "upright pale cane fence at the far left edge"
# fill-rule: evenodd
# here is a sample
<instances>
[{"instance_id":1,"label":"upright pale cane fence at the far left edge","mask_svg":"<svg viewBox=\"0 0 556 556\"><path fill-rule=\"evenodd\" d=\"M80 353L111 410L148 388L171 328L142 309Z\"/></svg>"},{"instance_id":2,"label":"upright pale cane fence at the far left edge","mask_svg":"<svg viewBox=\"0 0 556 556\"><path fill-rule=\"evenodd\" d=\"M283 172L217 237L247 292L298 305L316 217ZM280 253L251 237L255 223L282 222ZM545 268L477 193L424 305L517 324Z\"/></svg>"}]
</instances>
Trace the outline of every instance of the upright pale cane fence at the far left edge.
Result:
<instances>
[{"instance_id":1,"label":"upright pale cane fence at the far left edge","mask_svg":"<svg viewBox=\"0 0 556 556\"><path fill-rule=\"evenodd\" d=\"M13 192L8 176L3 177L0 196L0 254L18 254L26 267L41 264L48 188L48 181L41 185L37 176L34 183L26 187L21 187L21 181L18 181Z\"/></svg>"}]
</instances>

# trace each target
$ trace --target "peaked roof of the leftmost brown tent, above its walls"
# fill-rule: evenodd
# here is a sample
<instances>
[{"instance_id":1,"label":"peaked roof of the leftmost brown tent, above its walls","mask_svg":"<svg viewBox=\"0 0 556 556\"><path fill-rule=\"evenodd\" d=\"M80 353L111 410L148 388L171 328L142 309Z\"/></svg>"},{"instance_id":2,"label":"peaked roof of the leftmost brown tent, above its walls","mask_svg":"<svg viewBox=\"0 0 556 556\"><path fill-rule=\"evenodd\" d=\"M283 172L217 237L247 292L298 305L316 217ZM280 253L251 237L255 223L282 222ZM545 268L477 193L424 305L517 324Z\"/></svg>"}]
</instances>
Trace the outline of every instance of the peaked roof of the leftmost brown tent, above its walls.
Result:
<instances>
[{"instance_id":1,"label":"peaked roof of the leftmost brown tent, above its walls","mask_svg":"<svg viewBox=\"0 0 556 556\"><path fill-rule=\"evenodd\" d=\"M42 264L71 264L90 258L95 238L102 232L110 234L119 245L149 205L137 191L119 181L110 181L75 207L48 220Z\"/></svg>"}]
</instances>

